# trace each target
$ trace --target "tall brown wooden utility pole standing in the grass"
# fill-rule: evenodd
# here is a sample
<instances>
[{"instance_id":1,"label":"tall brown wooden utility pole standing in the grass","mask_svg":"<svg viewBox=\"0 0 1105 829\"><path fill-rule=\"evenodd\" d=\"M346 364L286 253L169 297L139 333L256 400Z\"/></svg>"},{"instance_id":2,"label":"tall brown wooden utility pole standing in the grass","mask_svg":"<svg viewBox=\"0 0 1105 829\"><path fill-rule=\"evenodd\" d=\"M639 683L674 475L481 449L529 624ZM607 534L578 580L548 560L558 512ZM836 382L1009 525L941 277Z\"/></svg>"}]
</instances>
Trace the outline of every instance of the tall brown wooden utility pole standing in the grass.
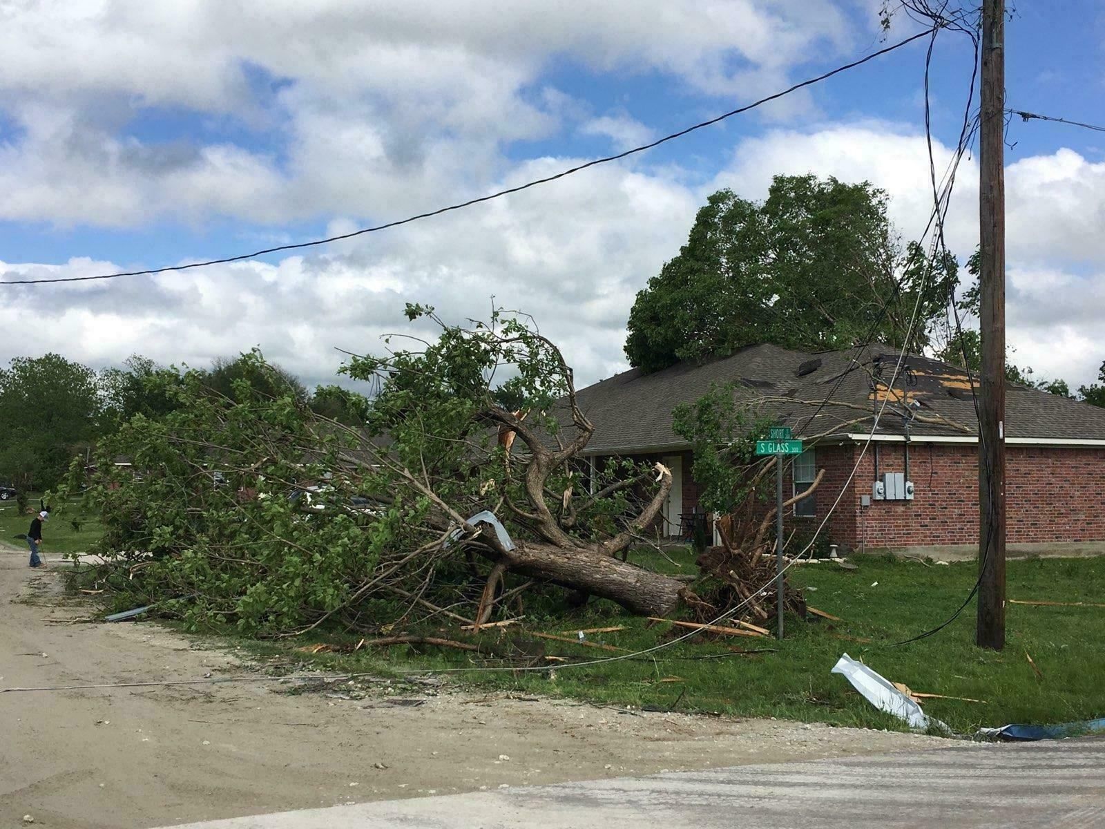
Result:
<instances>
[{"instance_id":1,"label":"tall brown wooden utility pole standing in the grass","mask_svg":"<svg viewBox=\"0 0 1105 829\"><path fill-rule=\"evenodd\" d=\"M979 589L976 643L1006 647L1006 2L982 2L979 269Z\"/></svg>"}]
</instances>

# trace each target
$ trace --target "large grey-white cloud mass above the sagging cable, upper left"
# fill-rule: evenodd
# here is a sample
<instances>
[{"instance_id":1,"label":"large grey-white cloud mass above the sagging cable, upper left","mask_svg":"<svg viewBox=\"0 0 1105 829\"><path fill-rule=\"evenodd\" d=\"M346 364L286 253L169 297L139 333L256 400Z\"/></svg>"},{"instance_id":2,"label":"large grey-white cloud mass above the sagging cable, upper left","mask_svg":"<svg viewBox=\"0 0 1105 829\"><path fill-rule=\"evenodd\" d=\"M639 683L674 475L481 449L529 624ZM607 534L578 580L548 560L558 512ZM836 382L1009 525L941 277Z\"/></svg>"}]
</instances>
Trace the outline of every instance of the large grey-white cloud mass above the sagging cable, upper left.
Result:
<instances>
[{"instance_id":1,"label":"large grey-white cloud mass above the sagging cable, upper left","mask_svg":"<svg viewBox=\"0 0 1105 829\"><path fill-rule=\"evenodd\" d=\"M579 117L541 71L667 73L749 99L814 48L851 46L830 0L54 0L0 7L0 219L137 227L380 216L471 196L503 150ZM276 91L273 84L276 84ZM211 146L126 137L150 108L257 130ZM199 122L197 122L198 124ZM615 141L643 134L598 119ZM263 138L264 151L251 149Z\"/></svg>"}]
</instances>

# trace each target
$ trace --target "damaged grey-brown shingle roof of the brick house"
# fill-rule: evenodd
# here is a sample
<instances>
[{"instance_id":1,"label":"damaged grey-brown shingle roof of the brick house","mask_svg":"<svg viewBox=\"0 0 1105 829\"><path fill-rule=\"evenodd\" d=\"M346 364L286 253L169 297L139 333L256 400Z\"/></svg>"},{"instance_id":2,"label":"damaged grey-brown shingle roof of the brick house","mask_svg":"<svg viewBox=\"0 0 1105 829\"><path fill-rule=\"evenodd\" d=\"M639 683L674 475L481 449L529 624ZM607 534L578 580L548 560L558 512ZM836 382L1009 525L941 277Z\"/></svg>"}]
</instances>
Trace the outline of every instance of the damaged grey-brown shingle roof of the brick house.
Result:
<instances>
[{"instance_id":1,"label":"damaged grey-brown shingle roof of the brick house","mask_svg":"<svg viewBox=\"0 0 1105 829\"><path fill-rule=\"evenodd\" d=\"M912 436L977 434L964 369L905 355L894 389L887 392L886 380L899 357L901 353L881 345L813 354L758 345L729 357L680 363L653 374L631 369L579 390L580 407L596 427L585 453L686 447L672 430L672 409L697 400L715 382L738 384L738 398L758 400L764 414L791 426L796 437L870 431L875 408L887 395L880 433L903 434L905 403L916 401L917 417L908 426ZM877 392L874 377L882 378ZM825 398L830 402L820 406ZM849 422L855 419L864 420ZM1006 421L1009 438L1105 440L1105 409L1015 384L1007 386Z\"/></svg>"}]
</instances>

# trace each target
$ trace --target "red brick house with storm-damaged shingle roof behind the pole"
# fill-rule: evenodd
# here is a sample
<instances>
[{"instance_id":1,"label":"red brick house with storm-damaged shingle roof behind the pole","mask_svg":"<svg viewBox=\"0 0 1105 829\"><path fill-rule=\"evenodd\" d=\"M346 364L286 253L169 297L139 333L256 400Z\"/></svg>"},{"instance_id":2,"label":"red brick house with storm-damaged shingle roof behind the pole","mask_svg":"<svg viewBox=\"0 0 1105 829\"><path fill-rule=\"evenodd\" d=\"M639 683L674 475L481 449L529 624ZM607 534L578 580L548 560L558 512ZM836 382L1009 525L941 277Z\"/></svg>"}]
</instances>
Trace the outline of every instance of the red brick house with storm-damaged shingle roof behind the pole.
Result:
<instances>
[{"instance_id":1,"label":"red brick house with storm-damaged shingle roof behind the pole","mask_svg":"<svg viewBox=\"0 0 1105 829\"><path fill-rule=\"evenodd\" d=\"M701 511L701 487L690 445L672 430L672 409L712 384L735 382L739 399L807 441L808 451L785 468L787 496L825 471L818 490L788 510L789 527L812 533L829 515L823 535L842 550L974 556L970 381L961 368L905 355L891 387L899 356L877 345L818 354L759 345L654 374L632 369L578 392L596 427L583 454L591 463L633 457L671 468L662 533L676 536L685 516ZM1006 417L1010 554L1105 553L1105 409L1010 384Z\"/></svg>"}]
</instances>

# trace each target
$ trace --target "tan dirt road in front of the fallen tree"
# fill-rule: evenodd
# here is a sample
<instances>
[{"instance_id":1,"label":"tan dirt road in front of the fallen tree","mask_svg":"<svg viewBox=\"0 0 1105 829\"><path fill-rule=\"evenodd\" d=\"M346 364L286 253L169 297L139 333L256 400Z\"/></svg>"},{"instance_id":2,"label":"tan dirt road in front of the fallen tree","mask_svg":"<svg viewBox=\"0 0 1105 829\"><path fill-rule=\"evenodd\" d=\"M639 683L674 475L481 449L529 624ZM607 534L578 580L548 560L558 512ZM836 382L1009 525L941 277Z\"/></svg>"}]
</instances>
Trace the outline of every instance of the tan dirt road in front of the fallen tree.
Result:
<instances>
[{"instance_id":1,"label":"tan dirt road in front of the fallen tree","mask_svg":"<svg viewBox=\"0 0 1105 829\"><path fill-rule=\"evenodd\" d=\"M151 623L61 623L57 571L0 550L0 689L251 674L241 654ZM49 621L48 621L49 620ZM0 693L0 826L126 827L420 795L936 747L774 721L631 715L386 683L366 699L291 683ZM340 692L333 689L329 693ZM354 694L356 696L356 694Z\"/></svg>"}]
</instances>

